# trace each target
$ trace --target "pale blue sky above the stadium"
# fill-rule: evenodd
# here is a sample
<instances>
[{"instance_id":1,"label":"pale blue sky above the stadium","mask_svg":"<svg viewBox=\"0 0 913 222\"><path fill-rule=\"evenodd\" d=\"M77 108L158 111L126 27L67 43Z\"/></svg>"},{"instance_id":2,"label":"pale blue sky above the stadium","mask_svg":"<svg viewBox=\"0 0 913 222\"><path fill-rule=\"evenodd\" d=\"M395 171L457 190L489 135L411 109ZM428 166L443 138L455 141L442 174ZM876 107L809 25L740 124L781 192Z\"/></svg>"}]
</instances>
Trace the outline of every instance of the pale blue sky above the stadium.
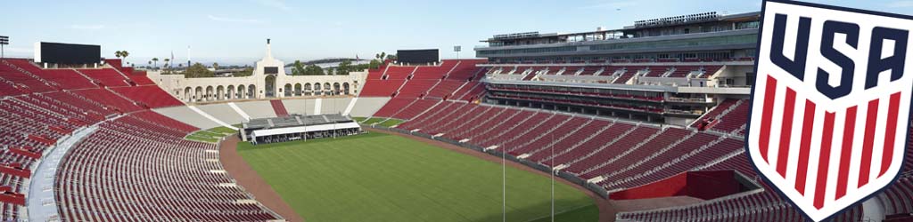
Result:
<instances>
[{"instance_id":1,"label":"pale blue sky above the stadium","mask_svg":"<svg viewBox=\"0 0 913 222\"><path fill-rule=\"evenodd\" d=\"M913 15L913 0L813 1ZM761 10L760 0L704 1L4 1L0 35L6 55L31 57L35 42L101 45L102 55L131 52L138 64L153 56L185 61L249 64L262 57L266 38L273 54L291 62L325 57L373 57L396 49L440 48L473 56L491 35L540 31L568 33L620 28L643 20L717 11Z\"/></svg>"}]
</instances>

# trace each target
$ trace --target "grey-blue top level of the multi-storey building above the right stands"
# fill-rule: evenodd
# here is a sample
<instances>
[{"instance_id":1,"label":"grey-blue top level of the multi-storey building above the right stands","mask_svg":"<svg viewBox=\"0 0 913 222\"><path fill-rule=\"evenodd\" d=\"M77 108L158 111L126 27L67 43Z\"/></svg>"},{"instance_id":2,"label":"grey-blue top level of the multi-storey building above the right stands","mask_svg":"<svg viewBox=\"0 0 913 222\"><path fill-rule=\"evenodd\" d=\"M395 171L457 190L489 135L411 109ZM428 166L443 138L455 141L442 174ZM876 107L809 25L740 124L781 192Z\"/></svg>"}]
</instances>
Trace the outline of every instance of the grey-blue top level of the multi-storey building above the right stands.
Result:
<instances>
[{"instance_id":1,"label":"grey-blue top level of the multi-storey building above the right stands","mask_svg":"<svg viewBox=\"0 0 913 222\"><path fill-rule=\"evenodd\" d=\"M497 58L745 50L757 45L760 16L704 13L637 21L614 30L494 35L476 51L479 57Z\"/></svg>"}]
</instances>

